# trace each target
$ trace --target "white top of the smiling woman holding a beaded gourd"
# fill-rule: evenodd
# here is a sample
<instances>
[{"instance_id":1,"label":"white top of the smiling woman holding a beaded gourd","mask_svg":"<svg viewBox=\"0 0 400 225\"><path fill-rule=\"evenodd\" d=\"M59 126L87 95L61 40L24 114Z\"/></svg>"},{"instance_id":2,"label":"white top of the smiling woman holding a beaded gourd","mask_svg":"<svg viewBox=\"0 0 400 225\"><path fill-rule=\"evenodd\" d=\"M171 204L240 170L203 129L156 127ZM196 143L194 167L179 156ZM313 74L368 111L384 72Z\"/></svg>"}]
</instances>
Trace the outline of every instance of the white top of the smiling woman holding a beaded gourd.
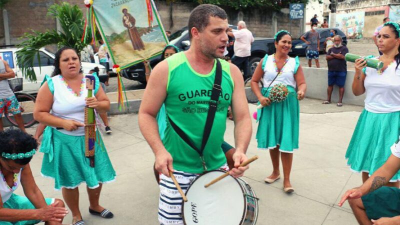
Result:
<instances>
[{"instance_id":1,"label":"white top of the smiling woman holding a beaded gourd","mask_svg":"<svg viewBox=\"0 0 400 225\"><path fill-rule=\"evenodd\" d=\"M290 57L289 60L286 62L286 64L283 66L283 68L281 68L282 71L276 77L276 79L273 81L270 87L272 87L277 83L283 83L285 85L296 88L296 80L294 79L295 66L296 66L296 60ZM275 70L275 63L273 63L273 55L268 55L264 67L264 75L262 77L264 87L269 86L269 83L273 80L273 78L275 78L277 73L278 72Z\"/></svg>"}]
</instances>

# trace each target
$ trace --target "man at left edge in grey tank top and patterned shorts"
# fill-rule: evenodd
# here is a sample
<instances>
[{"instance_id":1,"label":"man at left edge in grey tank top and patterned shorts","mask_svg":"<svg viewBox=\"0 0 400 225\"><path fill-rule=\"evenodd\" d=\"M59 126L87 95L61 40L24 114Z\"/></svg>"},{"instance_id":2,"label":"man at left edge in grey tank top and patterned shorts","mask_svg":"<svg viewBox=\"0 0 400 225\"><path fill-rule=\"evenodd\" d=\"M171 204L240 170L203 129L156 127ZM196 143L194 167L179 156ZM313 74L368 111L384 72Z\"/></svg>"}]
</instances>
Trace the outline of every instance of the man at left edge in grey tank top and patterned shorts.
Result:
<instances>
[{"instance_id":1,"label":"man at left edge in grey tank top and patterned shorts","mask_svg":"<svg viewBox=\"0 0 400 225\"><path fill-rule=\"evenodd\" d=\"M0 131L3 130L1 114L11 113L13 114L18 127L25 132L18 100L16 99L14 92L12 92L11 88L9 87L7 80L14 77L15 73L9 67L8 63L0 59Z\"/></svg>"}]
</instances>

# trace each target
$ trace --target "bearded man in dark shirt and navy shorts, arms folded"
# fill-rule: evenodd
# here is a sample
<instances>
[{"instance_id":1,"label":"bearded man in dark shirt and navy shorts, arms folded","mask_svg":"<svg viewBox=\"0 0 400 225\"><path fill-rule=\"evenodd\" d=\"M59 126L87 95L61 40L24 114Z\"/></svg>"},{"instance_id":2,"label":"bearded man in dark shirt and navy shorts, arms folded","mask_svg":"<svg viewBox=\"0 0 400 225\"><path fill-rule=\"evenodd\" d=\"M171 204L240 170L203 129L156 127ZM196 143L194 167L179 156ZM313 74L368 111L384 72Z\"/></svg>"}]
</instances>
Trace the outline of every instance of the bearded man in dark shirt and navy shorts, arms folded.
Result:
<instances>
[{"instance_id":1,"label":"bearded man in dark shirt and navy shorts, arms folded","mask_svg":"<svg viewBox=\"0 0 400 225\"><path fill-rule=\"evenodd\" d=\"M341 44L342 39L340 35L336 35L333 37L334 45L329 48L326 53L326 60L328 62L328 99L322 104L331 103L330 97L333 91L333 85L337 85L339 87L339 101L336 106L342 106L341 102L344 94L344 83L346 81L347 75L347 64L346 60L344 60L344 55L348 52L346 46Z\"/></svg>"}]
</instances>

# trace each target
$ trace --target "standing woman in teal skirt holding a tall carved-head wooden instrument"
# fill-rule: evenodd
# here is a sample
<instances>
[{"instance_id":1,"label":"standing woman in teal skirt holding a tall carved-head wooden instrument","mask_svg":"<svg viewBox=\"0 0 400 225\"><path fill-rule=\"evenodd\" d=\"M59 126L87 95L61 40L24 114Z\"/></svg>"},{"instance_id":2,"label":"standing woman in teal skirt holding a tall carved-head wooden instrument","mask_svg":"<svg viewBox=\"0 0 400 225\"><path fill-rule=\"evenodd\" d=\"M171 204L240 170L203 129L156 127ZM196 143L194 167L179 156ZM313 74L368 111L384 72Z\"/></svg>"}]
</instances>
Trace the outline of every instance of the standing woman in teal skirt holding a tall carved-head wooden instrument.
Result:
<instances>
[{"instance_id":1,"label":"standing woman in teal skirt holding a tall carved-head wooden instrument","mask_svg":"<svg viewBox=\"0 0 400 225\"><path fill-rule=\"evenodd\" d=\"M51 79L39 89L33 115L47 125L40 151L44 152L41 173L54 179L54 188L62 188L62 196L72 212L73 223L83 225L79 211L80 183L85 182L89 212L103 218L113 214L100 206L101 184L113 181L115 171L108 158L101 136L96 131L94 167L85 157L84 107L97 112L109 109L109 100L95 78L94 97L86 98L85 77L75 49L62 47L55 54Z\"/></svg>"}]
</instances>

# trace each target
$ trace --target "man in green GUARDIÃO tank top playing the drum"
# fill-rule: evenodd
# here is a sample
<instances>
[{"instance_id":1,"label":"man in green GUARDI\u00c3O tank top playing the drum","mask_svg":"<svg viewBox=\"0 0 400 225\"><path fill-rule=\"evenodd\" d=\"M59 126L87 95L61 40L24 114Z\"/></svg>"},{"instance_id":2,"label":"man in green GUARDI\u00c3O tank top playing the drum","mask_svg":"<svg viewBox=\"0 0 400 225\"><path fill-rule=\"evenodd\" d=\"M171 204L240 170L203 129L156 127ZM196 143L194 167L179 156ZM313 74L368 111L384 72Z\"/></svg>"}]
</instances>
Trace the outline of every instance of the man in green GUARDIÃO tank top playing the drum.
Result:
<instances>
[{"instance_id":1,"label":"man in green GUARDI\u00c3O tank top playing the drum","mask_svg":"<svg viewBox=\"0 0 400 225\"><path fill-rule=\"evenodd\" d=\"M154 67L139 109L140 130L155 154L155 168L162 173L158 207L161 224L183 224L182 198L169 177L169 171L173 171L185 191L203 171L227 168L220 146L229 105L233 111L236 145L232 156L235 168L230 170L230 174L239 177L248 168L239 167L241 162L247 160L245 152L251 136L243 78L235 65L217 59L223 56L228 40L226 12L215 5L199 5L190 14L188 29L190 48ZM213 85L216 64L219 64L216 60L222 68L221 92L212 129L202 149L200 146L209 105L215 105L210 102L210 95L213 86L218 87ZM155 117L163 102L168 122L161 142ZM182 133L186 140L183 140ZM188 142L194 147L190 147Z\"/></svg>"}]
</instances>

